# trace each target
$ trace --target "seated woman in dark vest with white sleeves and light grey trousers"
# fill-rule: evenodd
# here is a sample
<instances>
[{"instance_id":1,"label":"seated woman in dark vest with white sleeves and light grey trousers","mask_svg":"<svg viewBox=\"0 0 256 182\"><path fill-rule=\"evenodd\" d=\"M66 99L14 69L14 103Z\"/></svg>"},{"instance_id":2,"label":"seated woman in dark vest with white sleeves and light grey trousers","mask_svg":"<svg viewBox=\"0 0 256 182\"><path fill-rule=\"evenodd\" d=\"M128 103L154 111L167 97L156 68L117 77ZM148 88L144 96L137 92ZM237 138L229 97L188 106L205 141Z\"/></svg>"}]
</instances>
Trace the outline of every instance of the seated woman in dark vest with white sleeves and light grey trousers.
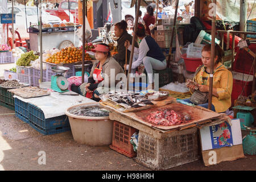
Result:
<instances>
[{"instance_id":1,"label":"seated woman in dark vest with white sleeves and light grey trousers","mask_svg":"<svg viewBox=\"0 0 256 182\"><path fill-rule=\"evenodd\" d=\"M141 39L139 48L134 47L134 52L138 55L138 58L133 59L131 65L131 73L135 73L135 69L138 68L142 63L148 74L148 80L150 85L148 88L154 89L154 74L153 69L163 70L166 69L166 57L163 55L162 49L158 43L155 42L151 36L146 35L146 30L143 24L138 23L138 28L135 34ZM129 41L125 42L125 46L130 50L131 44ZM135 57L135 56L134 56ZM128 70L129 65L125 65L124 69Z\"/></svg>"}]
</instances>

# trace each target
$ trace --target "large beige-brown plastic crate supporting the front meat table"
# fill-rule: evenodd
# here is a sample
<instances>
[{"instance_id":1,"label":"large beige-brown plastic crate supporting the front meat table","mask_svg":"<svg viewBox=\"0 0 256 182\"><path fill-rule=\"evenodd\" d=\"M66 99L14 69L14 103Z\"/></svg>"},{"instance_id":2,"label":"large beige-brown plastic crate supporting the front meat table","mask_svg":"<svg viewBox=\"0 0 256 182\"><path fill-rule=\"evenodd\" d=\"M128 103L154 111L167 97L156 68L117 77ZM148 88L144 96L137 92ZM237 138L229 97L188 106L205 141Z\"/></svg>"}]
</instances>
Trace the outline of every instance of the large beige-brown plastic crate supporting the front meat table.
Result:
<instances>
[{"instance_id":1,"label":"large beige-brown plastic crate supporting the front meat table","mask_svg":"<svg viewBox=\"0 0 256 182\"><path fill-rule=\"evenodd\" d=\"M135 162L153 170L169 169L199 160L196 127L158 137L140 130L138 143Z\"/></svg>"}]
</instances>

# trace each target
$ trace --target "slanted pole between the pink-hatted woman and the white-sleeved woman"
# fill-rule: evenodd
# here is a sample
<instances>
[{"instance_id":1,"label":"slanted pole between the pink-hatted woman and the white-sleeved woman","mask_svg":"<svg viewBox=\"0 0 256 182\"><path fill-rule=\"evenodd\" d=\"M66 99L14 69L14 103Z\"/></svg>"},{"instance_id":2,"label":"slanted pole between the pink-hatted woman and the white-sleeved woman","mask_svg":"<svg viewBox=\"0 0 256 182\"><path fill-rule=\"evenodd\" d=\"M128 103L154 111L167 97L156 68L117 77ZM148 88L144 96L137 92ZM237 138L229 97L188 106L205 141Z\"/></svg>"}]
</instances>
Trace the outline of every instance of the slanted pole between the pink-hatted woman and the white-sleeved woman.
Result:
<instances>
[{"instance_id":1,"label":"slanted pole between the pink-hatted woman and the white-sleeved woman","mask_svg":"<svg viewBox=\"0 0 256 182\"><path fill-rule=\"evenodd\" d=\"M141 7L141 0L138 0L138 7L136 11L136 18L135 18L135 24L134 24L134 33L137 31L138 27L138 19L139 19L139 8ZM126 81L126 90L129 89L129 77L131 73L131 64L133 63L133 53L134 53L134 46L135 46L135 34L133 36L133 42L131 43L131 54L130 54L130 60L129 60L129 69L127 74L127 81Z\"/></svg>"}]
</instances>

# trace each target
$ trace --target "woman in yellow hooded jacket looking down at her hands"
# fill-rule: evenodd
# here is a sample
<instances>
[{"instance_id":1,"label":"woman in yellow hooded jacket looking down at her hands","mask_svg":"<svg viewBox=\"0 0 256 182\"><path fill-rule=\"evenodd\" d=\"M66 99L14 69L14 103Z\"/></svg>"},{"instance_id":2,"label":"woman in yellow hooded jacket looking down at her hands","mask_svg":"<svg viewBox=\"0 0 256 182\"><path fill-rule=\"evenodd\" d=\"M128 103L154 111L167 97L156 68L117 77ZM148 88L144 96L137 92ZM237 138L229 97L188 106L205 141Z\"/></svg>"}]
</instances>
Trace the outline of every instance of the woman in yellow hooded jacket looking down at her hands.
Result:
<instances>
[{"instance_id":1,"label":"woman in yellow hooded jacket looking down at her hands","mask_svg":"<svg viewBox=\"0 0 256 182\"><path fill-rule=\"evenodd\" d=\"M193 81L199 84L201 92L209 92L209 74L210 74L210 44L204 46L202 50L203 66L197 68L197 74L194 76ZM213 96L212 96L212 110L217 113L223 113L231 106L231 93L233 87L232 73L226 69L221 63L224 56L223 49L216 44L214 52L214 71L213 71ZM191 93L195 91L195 86L188 86ZM184 100L190 102L189 100ZM200 105L208 108L208 103Z\"/></svg>"}]
</instances>

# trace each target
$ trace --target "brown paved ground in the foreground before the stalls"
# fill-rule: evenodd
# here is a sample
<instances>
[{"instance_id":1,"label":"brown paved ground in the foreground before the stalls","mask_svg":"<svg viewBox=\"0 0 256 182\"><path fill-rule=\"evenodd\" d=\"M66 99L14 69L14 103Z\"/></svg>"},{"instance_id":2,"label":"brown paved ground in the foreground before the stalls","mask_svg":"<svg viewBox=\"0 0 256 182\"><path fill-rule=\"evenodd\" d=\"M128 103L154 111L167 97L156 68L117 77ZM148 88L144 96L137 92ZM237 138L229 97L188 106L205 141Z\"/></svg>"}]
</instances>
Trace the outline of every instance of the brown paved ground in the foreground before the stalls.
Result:
<instances>
[{"instance_id":1,"label":"brown paved ground in the foreground before the stalls","mask_svg":"<svg viewBox=\"0 0 256 182\"><path fill-rule=\"evenodd\" d=\"M39 151L46 152L46 165L38 163ZM169 170L255 171L255 162L255 155L246 155L244 159L222 162L210 167L205 167L203 160L198 160ZM42 135L16 118L13 110L0 106L0 170L147 171L150 169L115 152L109 146L93 147L79 144L73 140L71 131Z\"/></svg>"}]
</instances>

